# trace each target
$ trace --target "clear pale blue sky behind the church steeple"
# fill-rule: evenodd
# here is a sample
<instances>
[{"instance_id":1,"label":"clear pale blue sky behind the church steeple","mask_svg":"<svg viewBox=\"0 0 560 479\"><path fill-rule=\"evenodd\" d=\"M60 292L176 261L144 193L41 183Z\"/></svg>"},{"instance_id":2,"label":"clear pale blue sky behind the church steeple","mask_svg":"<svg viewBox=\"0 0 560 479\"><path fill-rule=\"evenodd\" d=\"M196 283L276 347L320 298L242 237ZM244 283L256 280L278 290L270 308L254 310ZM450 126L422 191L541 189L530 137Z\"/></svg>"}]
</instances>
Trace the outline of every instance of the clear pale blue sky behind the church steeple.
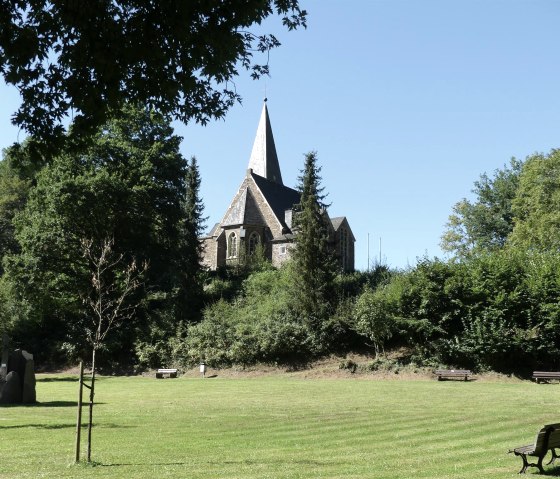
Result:
<instances>
[{"instance_id":1,"label":"clear pale blue sky behind the church steeple","mask_svg":"<svg viewBox=\"0 0 560 479\"><path fill-rule=\"evenodd\" d=\"M208 227L221 219L249 162L268 97L284 183L316 150L331 216L347 216L356 267L444 257L453 205L513 156L560 147L560 2L300 0L308 28L267 21L282 46L271 77L235 82L243 104L205 127L176 124L199 161ZM0 148L15 90L0 86Z\"/></svg>"}]
</instances>

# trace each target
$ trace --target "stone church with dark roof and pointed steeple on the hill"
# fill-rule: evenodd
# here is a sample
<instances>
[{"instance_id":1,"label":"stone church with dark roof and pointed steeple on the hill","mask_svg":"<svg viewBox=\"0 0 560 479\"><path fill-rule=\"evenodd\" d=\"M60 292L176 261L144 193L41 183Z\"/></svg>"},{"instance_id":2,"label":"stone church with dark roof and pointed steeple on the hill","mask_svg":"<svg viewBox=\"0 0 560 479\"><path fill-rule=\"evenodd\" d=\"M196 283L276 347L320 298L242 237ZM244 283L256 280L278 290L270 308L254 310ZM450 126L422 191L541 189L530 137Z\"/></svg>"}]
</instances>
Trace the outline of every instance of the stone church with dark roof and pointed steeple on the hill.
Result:
<instances>
[{"instance_id":1,"label":"stone church with dark roof and pointed steeple on the hill","mask_svg":"<svg viewBox=\"0 0 560 479\"><path fill-rule=\"evenodd\" d=\"M245 178L222 220L201 238L204 267L240 264L257 248L273 266L281 266L294 247L292 220L299 201L300 193L282 183L265 99ZM348 220L329 220L329 242L340 270L353 271L355 238Z\"/></svg>"}]
</instances>

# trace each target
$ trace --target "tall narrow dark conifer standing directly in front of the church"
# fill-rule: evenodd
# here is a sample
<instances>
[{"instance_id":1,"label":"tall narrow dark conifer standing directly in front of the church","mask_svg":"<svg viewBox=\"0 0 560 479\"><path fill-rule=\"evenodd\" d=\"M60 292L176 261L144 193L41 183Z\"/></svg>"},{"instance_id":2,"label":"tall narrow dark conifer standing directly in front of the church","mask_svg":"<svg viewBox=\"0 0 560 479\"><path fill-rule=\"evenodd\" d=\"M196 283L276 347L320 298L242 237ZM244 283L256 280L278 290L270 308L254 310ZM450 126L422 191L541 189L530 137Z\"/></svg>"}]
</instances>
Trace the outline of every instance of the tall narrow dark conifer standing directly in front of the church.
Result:
<instances>
[{"instance_id":1,"label":"tall narrow dark conifer standing directly in front of the church","mask_svg":"<svg viewBox=\"0 0 560 479\"><path fill-rule=\"evenodd\" d=\"M295 248L293 252L294 297L299 312L316 330L332 312L336 261L329 245L327 216L317 154L305 155L305 166L299 178L301 201L294 217Z\"/></svg>"}]
</instances>

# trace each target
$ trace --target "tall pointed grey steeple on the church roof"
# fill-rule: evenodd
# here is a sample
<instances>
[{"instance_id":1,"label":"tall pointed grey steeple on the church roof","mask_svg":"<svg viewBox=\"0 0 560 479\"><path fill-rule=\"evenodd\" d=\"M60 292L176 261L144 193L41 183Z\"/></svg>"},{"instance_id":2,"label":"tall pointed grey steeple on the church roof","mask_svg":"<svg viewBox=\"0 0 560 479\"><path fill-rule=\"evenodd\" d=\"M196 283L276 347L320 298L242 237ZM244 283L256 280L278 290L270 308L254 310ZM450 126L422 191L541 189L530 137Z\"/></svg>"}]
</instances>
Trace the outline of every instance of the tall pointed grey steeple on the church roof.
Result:
<instances>
[{"instance_id":1,"label":"tall pointed grey steeple on the church roof","mask_svg":"<svg viewBox=\"0 0 560 479\"><path fill-rule=\"evenodd\" d=\"M268 109L266 107L266 98L264 99L255 143L253 143L249 168L256 175L283 185L280 164L278 163L276 146L274 146L274 137L272 136L272 128L270 126L270 118L268 117Z\"/></svg>"}]
</instances>

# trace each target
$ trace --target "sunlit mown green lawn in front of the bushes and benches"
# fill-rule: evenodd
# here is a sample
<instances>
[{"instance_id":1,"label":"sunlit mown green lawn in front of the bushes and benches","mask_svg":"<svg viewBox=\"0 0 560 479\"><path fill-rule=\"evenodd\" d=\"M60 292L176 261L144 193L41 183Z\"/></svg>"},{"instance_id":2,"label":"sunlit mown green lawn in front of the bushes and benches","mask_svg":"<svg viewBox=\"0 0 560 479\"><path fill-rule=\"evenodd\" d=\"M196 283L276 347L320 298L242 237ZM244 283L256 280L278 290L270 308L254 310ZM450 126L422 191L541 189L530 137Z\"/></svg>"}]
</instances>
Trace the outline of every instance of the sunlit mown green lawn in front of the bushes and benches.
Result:
<instances>
[{"instance_id":1,"label":"sunlit mown green lawn in front of the bushes and benches","mask_svg":"<svg viewBox=\"0 0 560 479\"><path fill-rule=\"evenodd\" d=\"M91 466L76 378L37 398L0 407L2 479L516 477L507 450L560 422L560 386L529 382L103 377Z\"/></svg>"}]
</instances>

